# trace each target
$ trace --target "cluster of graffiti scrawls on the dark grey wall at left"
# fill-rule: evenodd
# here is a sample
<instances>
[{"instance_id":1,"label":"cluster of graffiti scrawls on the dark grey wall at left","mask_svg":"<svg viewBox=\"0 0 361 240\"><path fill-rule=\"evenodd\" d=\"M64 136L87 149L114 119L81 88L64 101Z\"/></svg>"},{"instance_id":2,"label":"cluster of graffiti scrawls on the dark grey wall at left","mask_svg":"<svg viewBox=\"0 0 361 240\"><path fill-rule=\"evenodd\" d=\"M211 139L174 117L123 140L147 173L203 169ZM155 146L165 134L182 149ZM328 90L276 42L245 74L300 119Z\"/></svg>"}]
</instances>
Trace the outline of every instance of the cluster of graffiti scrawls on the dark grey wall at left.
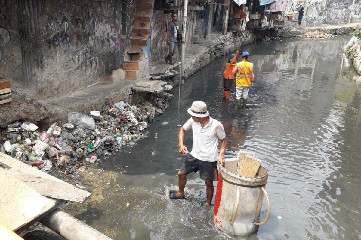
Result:
<instances>
[{"instance_id":1,"label":"cluster of graffiti scrawls on the dark grey wall at left","mask_svg":"<svg viewBox=\"0 0 361 240\"><path fill-rule=\"evenodd\" d=\"M107 15L111 16L110 12ZM54 49L58 57L69 56L74 70L86 74L97 72L99 54L124 51L121 30L117 17L93 18L86 6L75 10L70 19L49 17L45 26L49 49Z\"/></svg>"}]
</instances>

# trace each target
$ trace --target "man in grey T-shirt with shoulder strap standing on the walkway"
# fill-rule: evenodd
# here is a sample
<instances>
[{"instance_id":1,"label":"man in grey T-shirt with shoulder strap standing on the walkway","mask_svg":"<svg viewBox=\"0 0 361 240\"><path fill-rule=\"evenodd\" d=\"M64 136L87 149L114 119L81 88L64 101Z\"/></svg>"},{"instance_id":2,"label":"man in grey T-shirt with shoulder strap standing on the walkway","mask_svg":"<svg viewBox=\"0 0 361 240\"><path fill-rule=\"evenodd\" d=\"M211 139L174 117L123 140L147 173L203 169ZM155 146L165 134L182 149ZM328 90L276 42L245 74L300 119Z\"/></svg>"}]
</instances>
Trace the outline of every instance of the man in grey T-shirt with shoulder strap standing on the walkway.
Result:
<instances>
[{"instance_id":1,"label":"man in grey T-shirt with shoulder strap standing on the walkway","mask_svg":"<svg viewBox=\"0 0 361 240\"><path fill-rule=\"evenodd\" d=\"M178 40L182 37L179 32L178 24L178 15L177 13L172 13L172 21L168 23L168 37L167 44L169 45L169 54L164 59L165 62L170 65L173 65L173 56L177 58L178 55Z\"/></svg>"}]
</instances>

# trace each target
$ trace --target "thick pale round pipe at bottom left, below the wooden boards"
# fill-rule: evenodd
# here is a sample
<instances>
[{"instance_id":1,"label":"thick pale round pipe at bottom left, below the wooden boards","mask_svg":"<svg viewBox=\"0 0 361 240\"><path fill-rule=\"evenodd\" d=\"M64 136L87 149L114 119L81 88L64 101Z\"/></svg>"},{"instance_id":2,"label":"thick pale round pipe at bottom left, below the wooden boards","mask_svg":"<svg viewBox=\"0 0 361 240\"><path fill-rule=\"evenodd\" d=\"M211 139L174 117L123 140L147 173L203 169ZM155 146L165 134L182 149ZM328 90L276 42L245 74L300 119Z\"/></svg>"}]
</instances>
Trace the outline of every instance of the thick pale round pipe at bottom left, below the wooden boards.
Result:
<instances>
[{"instance_id":1,"label":"thick pale round pipe at bottom left, below the wooden boards","mask_svg":"<svg viewBox=\"0 0 361 240\"><path fill-rule=\"evenodd\" d=\"M59 209L49 213L40 222L67 240L112 240Z\"/></svg>"}]
</instances>

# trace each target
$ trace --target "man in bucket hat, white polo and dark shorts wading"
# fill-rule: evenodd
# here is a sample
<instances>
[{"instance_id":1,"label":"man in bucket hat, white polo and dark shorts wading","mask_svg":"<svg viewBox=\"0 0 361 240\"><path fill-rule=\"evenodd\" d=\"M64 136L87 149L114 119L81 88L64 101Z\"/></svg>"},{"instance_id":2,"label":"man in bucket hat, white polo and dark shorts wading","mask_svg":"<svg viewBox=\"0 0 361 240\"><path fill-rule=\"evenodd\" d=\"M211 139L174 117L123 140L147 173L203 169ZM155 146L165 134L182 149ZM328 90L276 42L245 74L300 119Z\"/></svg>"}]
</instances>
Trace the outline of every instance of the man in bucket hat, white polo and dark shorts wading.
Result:
<instances>
[{"instance_id":1,"label":"man in bucket hat, white polo and dark shorts wading","mask_svg":"<svg viewBox=\"0 0 361 240\"><path fill-rule=\"evenodd\" d=\"M207 105L203 101L194 101L188 108L191 118L181 127L178 133L179 152L186 154L181 169L178 171L178 192L170 193L171 199L184 199L184 187L187 174L199 170L200 178L205 181L207 202L210 205L213 198L213 181L217 181L217 162L224 166L223 155L227 147L226 133L222 123L209 117ZM193 146L189 153L183 145L185 132L192 129ZM221 140L218 155L218 140Z\"/></svg>"}]
</instances>

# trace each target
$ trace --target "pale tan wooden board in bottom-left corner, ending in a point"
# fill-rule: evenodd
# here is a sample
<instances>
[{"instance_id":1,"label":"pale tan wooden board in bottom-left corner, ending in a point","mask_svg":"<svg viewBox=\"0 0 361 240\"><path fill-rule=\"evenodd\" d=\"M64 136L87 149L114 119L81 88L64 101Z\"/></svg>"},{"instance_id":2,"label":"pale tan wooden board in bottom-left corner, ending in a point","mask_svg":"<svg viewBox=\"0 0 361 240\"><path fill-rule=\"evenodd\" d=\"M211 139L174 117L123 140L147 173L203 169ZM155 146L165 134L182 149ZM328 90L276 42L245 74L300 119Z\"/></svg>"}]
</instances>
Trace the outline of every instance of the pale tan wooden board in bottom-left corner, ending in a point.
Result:
<instances>
[{"instance_id":1,"label":"pale tan wooden board in bottom-left corner, ending in a point","mask_svg":"<svg viewBox=\"0 0 361 240\"><path fill-rule=\"evenodd\" d=\"M16 178L0 175L0 222L12 231L41 216L56 204Z\"/></svg>"}]
</instances>

